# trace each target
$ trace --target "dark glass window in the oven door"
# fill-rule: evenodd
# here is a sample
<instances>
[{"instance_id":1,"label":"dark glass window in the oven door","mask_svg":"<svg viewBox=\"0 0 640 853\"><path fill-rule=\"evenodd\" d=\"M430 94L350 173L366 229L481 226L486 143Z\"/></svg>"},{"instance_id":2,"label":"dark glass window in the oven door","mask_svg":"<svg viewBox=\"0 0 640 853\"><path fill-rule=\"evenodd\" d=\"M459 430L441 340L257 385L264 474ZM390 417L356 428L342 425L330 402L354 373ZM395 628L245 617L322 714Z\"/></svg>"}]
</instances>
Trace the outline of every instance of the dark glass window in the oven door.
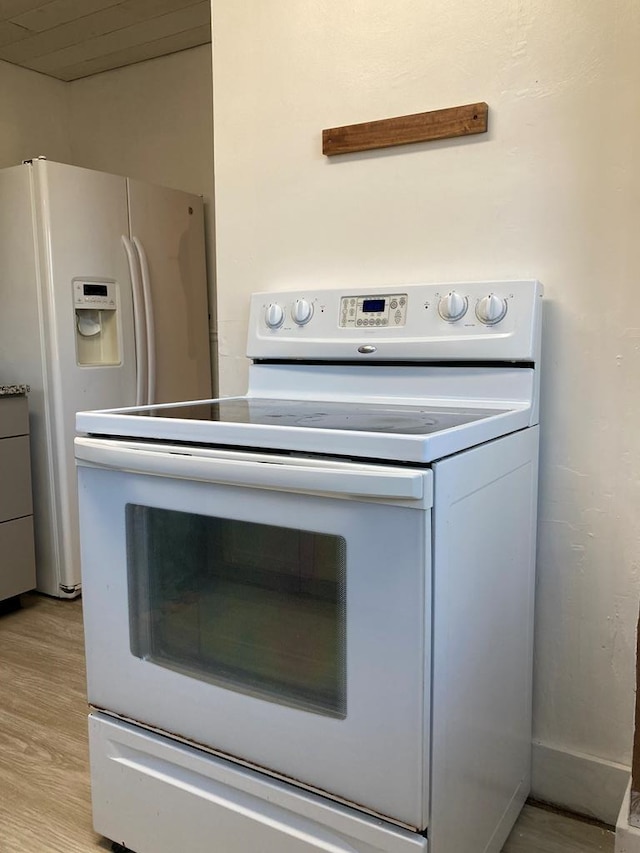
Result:
<instances>
[{"instance_id":1,"label":"dark glass window in the oven door","mask_svg":"<svg viewBox=\"0 0 640 853\"><path fill-rule=\"evenodd\" d=\"M346 716L346 543L128 504L130 646L193 678Z\"/></svg>"}]
</instances>

